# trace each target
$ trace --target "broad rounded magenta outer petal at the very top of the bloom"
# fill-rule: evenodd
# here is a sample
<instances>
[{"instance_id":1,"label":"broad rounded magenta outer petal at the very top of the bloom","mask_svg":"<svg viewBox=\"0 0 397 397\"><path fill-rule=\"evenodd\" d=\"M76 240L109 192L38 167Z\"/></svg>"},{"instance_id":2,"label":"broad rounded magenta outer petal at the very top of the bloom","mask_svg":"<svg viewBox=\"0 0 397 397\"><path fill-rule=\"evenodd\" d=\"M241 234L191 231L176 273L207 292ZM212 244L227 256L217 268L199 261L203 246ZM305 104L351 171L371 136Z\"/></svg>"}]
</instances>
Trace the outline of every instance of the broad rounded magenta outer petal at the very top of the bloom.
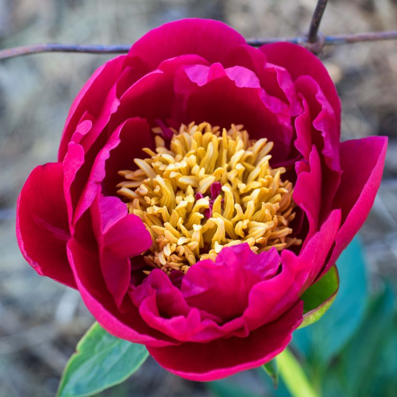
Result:
<instances>
[{"instance_id":1,"label":"broad rounded magenta outer petal at the very top of the bloom","mask_svg":"<svg viewBox=\"0 0 397 397\"><path fill-rule=\"evenodd\" d=\"M137 56L155 69L164 60L197 54L210 63L222 62L244 37L222 22L211 19L183 19L153 29L138 40L128 56Z\"/></svg>"}]
</instances>

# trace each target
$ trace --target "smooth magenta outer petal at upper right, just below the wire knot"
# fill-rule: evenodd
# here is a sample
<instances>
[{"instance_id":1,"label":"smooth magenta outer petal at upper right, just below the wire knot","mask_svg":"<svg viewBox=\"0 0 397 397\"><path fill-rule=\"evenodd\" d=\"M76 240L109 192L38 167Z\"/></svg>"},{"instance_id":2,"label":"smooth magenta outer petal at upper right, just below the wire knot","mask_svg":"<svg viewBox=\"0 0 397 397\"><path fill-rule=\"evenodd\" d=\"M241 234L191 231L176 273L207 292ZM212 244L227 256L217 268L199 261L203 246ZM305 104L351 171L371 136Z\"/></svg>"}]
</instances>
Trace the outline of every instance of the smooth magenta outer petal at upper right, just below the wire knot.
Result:
<instances>
[{"instance_id":1,"label":"smooth magenta outer petal at upper right, just below the wire knot","mask_svg":"<svg viewBox=\"0 0 397 397\"><path fill-rule=\"evenodd\" d=\"M311 76L321 87L335 112L340 133L340 100L334 83L321 61L302 46L291 43L274 43L260 47L268 62L282 66L290 72L292 80L299 76Z\"/></svg>"}]
</instances>

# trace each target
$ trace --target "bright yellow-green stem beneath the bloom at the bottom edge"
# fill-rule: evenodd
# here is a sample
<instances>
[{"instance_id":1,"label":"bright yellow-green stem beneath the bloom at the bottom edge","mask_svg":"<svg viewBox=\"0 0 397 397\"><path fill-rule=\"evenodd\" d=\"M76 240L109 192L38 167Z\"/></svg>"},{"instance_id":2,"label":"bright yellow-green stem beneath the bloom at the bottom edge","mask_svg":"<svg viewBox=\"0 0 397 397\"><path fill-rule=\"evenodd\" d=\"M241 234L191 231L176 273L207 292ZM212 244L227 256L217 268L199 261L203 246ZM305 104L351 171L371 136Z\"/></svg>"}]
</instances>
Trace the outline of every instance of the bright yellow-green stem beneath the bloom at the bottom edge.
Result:
<instances>
[{"instance_id":1,"label":"bright yellow-green stem beneath the bloom at the bottom edge","mask_svg":"<svg viewBox=\"0 0 397 397\"><path fill-rule=\"evenodd\" d=\"M319 397L298 360L287 348L276 357L277 365L292 397Z\"/></svg>"}]
</instances>

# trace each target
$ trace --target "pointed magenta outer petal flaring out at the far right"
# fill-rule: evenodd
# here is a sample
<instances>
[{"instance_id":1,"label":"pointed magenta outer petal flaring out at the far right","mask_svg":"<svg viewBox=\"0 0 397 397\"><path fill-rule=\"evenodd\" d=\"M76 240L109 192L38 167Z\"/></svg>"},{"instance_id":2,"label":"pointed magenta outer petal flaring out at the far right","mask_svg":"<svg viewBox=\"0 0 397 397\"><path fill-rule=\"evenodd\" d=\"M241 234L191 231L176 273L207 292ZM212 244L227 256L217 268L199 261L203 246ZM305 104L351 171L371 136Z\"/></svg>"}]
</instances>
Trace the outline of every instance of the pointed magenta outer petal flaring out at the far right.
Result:
<instances>
[{"instance_id":1,"label":"pointed magenta outer petal flaring out at the far right","mask_svg":"<svg viewBox=\"0 0 397 397\"><path fill-rule=\"evenodd\" d=\"M363 225L381 184L387 137L367 137L340 144L343 170L334 208L342 210L342 226L326 272Z\"/></svg>"}]
</instances>

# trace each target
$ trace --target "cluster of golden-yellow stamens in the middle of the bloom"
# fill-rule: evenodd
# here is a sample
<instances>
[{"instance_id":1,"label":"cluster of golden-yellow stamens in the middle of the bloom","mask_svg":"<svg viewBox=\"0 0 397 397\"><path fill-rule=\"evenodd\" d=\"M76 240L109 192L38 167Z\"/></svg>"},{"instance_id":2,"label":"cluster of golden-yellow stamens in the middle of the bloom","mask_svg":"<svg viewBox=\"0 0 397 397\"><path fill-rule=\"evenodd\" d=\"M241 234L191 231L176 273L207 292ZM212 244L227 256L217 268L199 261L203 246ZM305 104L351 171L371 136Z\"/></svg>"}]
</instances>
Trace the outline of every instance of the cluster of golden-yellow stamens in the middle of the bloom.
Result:
<instances>
[{"instance_id":1,"label":"cluster of golden-yellow stamens in the middle of the bloom","mask_svg":"<svg viewBox=\"0 0 397 397\"><path fill-rule=\"evenodd\" d=\"M245 242L259 253L301 244L289 236L292 183L281 180L285 168L269 165L273 142L249 139L234 124L221 131L192 122L173 132L169 149L157 135L156 151L145 148L150 157L134 159L136 171L119 171L125 181L117 193L152 236L146 263L186 273L224 246Z\"/></svg>"}]
</instances>

